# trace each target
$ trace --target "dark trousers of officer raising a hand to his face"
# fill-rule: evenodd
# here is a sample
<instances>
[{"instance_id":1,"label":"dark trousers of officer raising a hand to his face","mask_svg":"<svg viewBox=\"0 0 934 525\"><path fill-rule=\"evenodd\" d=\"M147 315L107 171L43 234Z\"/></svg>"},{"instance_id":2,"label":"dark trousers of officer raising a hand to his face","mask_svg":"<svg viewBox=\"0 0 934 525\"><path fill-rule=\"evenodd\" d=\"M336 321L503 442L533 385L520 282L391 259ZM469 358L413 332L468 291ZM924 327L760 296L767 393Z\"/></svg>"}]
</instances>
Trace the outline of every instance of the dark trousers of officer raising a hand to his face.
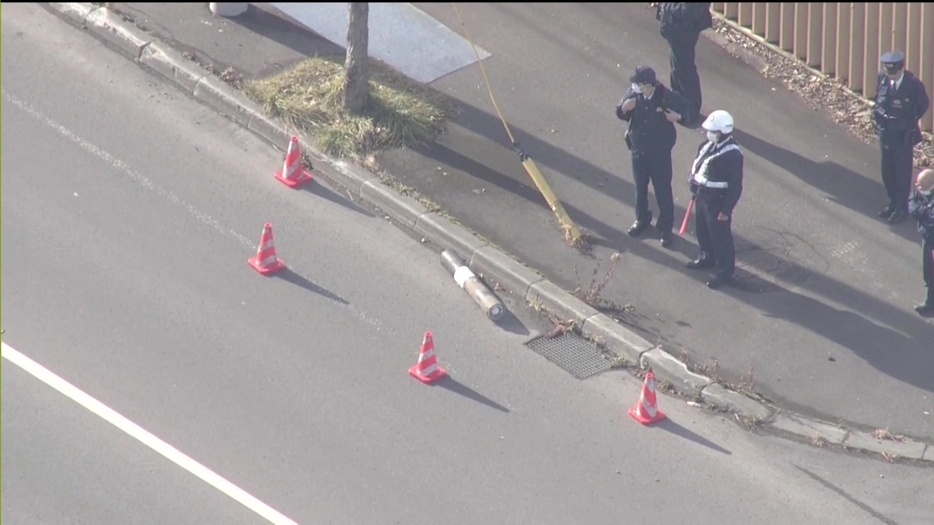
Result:
<instances>
[{"instance_id":1,"label":"dark trousers of officer raising a hand to his face","mask_svg":"<svg viewBox=\"0 0 934 525\"><path fill-rule=\"evenodd\" d=\"M670 232L675 223L675 201L671 194L671 152L633 153L632 174L636 185L636 220L652 222L649 209L649 181L658 203L658 222L655 227Z\"/></svg>"}]
</instances>

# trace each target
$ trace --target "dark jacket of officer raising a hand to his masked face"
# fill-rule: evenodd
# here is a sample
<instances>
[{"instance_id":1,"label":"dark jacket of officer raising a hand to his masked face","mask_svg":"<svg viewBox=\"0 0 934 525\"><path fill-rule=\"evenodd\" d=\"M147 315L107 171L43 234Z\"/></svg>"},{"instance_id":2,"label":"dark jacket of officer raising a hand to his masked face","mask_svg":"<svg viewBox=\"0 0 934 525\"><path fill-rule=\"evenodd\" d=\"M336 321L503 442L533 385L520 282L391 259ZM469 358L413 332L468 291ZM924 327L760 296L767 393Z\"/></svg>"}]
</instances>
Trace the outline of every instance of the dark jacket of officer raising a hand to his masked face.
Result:
<instances>
[{"instance_id":1,"label":"dark jacket of officer raising a hand to his masked face","mask_svg":"<svg viewBox=\"0 0 934 525\"><path fill-rule=\"evenodd\" d=\"M631 111L623 111L623 102L630 98L636 99L636 107ZM656 84L655 92L649 100L634 93L632 88L626 90L623 100L616 105L616 117L629 123L626 145L633 154L671 154L677 133L675 125L665 118L667 109L681 115L678 122L682 125L689 125L697 118L693 104L660 83Z\"/></svg>"}]
</instances>

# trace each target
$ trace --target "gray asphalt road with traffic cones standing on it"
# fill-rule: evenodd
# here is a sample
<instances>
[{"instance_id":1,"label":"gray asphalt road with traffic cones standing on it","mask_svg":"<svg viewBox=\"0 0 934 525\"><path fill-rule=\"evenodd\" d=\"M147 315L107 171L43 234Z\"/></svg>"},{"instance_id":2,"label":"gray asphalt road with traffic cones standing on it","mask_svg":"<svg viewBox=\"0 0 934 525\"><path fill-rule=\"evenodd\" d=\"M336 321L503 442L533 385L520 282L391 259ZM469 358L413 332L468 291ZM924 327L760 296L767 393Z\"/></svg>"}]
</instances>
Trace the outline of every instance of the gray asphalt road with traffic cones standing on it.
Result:
<instances>
[{"instance_id":1,"label":"gray asphalt road with traffic cones standing on it","mask_svg":"<svg viewBox=\"0 0 934 525\"><path fill-rule=\"evenodd\" d=\"M35 4L2 24L4 342L292 520L934 514L929 469L665 396L668 423L634 423L635 380L574 380L523 345L534 318L494 327L381 216L282 187L267 145ZM282 278L246 265L266 221ZM406 373L426 329L435 387ZM5 523L261 522L9 359L2 379Z\"/></svg>"}]
</instances>

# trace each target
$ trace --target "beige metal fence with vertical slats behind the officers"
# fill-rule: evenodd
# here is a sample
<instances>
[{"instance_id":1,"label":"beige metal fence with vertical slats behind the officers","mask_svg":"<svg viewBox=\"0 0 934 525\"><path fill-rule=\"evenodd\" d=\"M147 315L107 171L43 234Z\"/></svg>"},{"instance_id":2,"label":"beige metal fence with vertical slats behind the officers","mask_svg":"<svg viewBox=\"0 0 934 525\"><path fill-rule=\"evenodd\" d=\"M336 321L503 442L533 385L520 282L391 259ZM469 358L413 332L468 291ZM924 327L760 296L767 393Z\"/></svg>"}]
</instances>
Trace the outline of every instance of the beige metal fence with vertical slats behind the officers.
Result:
<instances>
[{"instance_id":1,"label":"beige metal fence with vertical slats behind the officers","mask_svg":"<svg viewBox=\"0 0 934 525\"><path fill-rule=\"evenodd\" d=\"M934 4L714 2L712 9L868 98L876 94L879 57L893 49L905 52L905 67L929 95L934 86ZM934 128L934 110L921 127Z\"/></svg>"}]
</instances>

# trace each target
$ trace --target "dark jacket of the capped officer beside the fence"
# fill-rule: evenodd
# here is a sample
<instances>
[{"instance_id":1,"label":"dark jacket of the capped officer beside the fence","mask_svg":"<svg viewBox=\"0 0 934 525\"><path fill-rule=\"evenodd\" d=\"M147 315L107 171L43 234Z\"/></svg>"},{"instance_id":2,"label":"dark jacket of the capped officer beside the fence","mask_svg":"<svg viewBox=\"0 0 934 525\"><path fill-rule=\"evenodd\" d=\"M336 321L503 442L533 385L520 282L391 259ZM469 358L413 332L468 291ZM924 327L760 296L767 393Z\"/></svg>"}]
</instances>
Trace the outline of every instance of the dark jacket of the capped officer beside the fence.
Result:
<instances>
[{"instance_id":1,"label":"dark jacket of the capped officer beside the fence","mask_svg":"<svg viewBox=\"0 0 934 525\"><path fill-rule=\"evenodd\" d=\"M884 73L876 78L876 105L872 120L883 145L899 146L906 141L911 145L921 142L918 120L928 110L930 99L924 84L910 71L905 71L898 91Z\"/></svg>"}]
</instances>

